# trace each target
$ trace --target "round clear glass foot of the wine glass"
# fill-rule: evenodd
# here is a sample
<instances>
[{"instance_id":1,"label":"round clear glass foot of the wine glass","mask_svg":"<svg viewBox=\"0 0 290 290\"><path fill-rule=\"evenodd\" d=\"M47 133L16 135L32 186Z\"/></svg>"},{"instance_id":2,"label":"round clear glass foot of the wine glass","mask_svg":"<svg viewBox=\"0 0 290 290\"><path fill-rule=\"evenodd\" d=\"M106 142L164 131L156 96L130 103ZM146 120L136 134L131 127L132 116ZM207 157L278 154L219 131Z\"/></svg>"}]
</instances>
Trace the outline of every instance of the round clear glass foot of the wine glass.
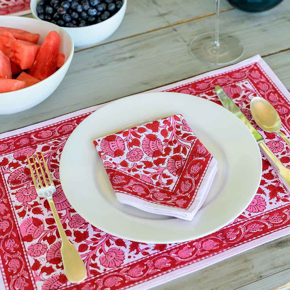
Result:
<instances>
[{"instance_id":1,"label":"round clear glass foot of the wine glass","mask_svg":"<svg viewBox=\"0 0 290 290\"><path fill-rule=\"evenodd\" d=\"M197 60L205 64L229 64L244 53L242 41L232 35L220 33L219 46L215 46L215 32L206 32L195 37L189 51Z\"/></svg>"}]
</instances>

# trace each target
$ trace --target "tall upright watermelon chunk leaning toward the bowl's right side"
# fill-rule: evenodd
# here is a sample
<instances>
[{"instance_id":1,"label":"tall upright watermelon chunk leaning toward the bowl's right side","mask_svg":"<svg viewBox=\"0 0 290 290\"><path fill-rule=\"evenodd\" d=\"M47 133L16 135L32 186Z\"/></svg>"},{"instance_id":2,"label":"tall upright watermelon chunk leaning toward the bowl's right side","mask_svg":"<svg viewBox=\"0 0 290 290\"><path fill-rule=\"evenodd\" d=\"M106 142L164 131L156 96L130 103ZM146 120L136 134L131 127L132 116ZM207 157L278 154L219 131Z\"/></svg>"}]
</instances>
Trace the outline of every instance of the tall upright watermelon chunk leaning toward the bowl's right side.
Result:
<instances>
[{"instance_id":1,"label":"tall upright watermelon chunk leaning toward the bowl's right side","mask_svg":"<svg viewBox=\"0 0 290 290\"><path fill-rule=\"evenodd\" d=\"M42 81L56 72L60 42L60 36L55 30L48 33L28 72L30 75Z\"/></svg>"}]
</instances>

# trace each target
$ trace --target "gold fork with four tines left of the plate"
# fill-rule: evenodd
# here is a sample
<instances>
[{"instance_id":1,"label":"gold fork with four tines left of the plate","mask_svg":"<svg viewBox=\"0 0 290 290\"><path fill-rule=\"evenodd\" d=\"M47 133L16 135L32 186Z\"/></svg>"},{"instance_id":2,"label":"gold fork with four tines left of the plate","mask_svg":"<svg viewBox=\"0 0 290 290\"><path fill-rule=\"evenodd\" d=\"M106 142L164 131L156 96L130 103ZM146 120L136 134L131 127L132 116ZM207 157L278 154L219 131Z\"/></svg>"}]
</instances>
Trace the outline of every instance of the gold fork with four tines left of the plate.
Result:
<instances>
[{"instance_id":1,"label":"gold fork with four tines left of the plate","mask_svg":"<svg viewBox=\"0 0 290 290\"><path fill-rule=\"evenodd\" d=\"M61 221L59 219L59 215L57 213L57 210L55 208L55 204L54 204L53 199L52 199L52 194L55 193L55 191L56 191L55 185L54 185L52 178L51 178L51 175L48 171L48 167L47 167L46 162L44 160L43 154L42 154L42 152L40 152L40 153L41 153L41 158L42 158L44 168L45 168L46 174L48 176L48 180L49 180L50 185L48 185L43 168L40 164L38 154L36 153L36 157L37 157L38 164L40 167L41 175L43 177L44 184L45 184L45 186L43 186L42 180L41 180L40 175L39 175L39 171L38 171L36 163L35 163L35 159L34 159L33 155L31 155L32 161L34 164L34 168L35 168L35 171L37 174L38 182L40 185L40 188L39 188L39 186L37 185L34 173L33 173L30 159L29 159L28 155L26 155L27 160L28 160L28 164L29 164L29 168L30 168L31 177L32 177L32 180L33 180L33 183L35 186L35 190L36 190L37 195L39 197L45 197L48 200L48 203L49 203L50 208L52 210L53 217L55 218L55 222L56 222L57 229L58 229L58 232L59 232L59 235L61 238L61 243L62 243L61 248L60 248L60 252L61 252L62 262L64 265L64 272L66 274L66 278L68 278L68 280L72 283L81 282L87 276L86 267L84 265L84 262L81 260L81 257L79 255L77 249L68 240L66 233L64 232L64 228L61 224Z\"/></svg>"}]
</instances>

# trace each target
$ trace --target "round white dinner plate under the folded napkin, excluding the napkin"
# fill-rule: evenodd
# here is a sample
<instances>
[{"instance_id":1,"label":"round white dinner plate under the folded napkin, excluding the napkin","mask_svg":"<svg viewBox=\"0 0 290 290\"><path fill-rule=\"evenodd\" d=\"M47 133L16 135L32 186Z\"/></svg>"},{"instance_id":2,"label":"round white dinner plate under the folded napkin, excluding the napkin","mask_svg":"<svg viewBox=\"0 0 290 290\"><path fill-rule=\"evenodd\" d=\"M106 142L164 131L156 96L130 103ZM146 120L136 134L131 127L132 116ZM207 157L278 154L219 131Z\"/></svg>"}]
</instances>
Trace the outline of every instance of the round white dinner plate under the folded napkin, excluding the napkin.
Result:
<instances>
[{"instance_id":1,"label":"round white dinner plate under the folded napkin, excluding the napkin","mask_svg":"<svg viewBox=\"0 0 290 290\"><path fill-rule=\"evenodd\" d=\"M118 202L93 140L182 114L218 161L209 195L192 221L147 213ZM73 208L97 228L137 242L173 243L213 233L249 205L261 180L262 160L249 129L211 101L180 93L144 93L119 99L88 116L68 138L60 180Z\"/></svg>"}]
</instances>

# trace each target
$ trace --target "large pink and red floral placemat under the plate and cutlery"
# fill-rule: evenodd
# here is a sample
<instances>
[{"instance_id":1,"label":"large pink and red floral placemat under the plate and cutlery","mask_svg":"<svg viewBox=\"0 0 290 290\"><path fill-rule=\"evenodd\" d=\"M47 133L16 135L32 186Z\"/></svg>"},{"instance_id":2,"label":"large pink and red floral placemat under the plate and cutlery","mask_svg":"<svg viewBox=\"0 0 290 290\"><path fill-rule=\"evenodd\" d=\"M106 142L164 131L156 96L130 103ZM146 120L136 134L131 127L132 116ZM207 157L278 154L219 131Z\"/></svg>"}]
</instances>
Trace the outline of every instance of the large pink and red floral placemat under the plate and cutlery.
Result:
<instances>
[{"instance_id":1,"label":"large pink and red floral placemat under the plate and cutlery","mask_svg":"<svg viewBox=\"0 0 290 290\"><path fill-rule=\"evenodd\" d=\"M249 119L250 99L265 97L278 110L282 131L290 137L290 94L260 56L154 91L198 95L218 103L216 84ZM0 289L148 289L290 233L289 194L264 157L254 200L234 222L206 237L179 244L143 244L87 223L71 208L61 189L59 160L74 128L101 106L0 135ZM276 134L257 129L290 167L290 148ZM55 180L54 200L66 234L88 270L88 278L77 285L64 276L52 213L31 184L26 154L40 150Z\"/></svg>"}]
</instances>

